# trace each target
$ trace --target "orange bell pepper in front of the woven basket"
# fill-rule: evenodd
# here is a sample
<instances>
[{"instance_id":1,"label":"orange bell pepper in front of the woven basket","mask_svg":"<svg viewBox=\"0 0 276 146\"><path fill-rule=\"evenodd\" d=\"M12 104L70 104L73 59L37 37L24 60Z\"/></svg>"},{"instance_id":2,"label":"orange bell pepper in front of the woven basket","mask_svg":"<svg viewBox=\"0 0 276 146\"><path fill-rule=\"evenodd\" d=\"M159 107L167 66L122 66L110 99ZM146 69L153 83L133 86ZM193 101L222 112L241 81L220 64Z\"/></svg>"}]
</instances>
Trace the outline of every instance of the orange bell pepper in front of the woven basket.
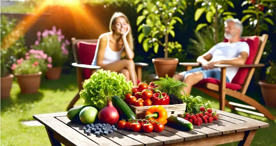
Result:
<instances>
[{"instance_id":1,"label":"orange bell pepper in front of the woven basket","mask_svg":"<svg viewBox=\"0 0 276 146\"><path fill-rule=\"evenodd\" d=\"M160 122L163 125L167 123L167 111L161 105L153 105L146 111L145 119ZM152 123L152 122L151 122ZM154 122L153 122L154 123Z\"/></svg>"}]
</instances>

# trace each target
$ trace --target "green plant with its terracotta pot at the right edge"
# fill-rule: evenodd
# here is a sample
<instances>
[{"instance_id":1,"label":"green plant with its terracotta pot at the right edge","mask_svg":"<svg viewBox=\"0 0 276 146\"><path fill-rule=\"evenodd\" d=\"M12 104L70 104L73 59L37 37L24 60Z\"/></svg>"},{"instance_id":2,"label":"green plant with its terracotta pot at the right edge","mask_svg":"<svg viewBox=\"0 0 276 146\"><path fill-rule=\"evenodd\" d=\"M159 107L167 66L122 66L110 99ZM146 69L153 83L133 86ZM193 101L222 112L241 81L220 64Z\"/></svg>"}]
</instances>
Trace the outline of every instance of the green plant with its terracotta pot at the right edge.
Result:
<instances>
[{"instance_id":1,"label":"green plant with its terracotta pot at the right edge","mask_svg":"<svg viewBox=\"0 0 276 146\"><path fill-rule=\"evenodd\" d=\"M276 66L269 61L266 68L266 78L259 81L264 101L268 107L276 108Z\"/></svg>"}]
</instances>

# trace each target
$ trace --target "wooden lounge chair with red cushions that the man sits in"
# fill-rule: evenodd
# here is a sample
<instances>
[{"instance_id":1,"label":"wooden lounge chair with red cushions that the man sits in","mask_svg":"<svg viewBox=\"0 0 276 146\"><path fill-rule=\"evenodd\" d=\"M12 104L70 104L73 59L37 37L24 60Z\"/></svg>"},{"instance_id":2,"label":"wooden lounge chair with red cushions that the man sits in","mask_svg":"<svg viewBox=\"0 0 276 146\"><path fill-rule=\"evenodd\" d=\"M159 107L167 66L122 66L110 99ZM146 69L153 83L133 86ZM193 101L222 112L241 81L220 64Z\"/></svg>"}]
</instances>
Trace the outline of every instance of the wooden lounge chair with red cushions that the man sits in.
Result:
<instances>
[{"instance_id":1,"label":"wooden lounge chair with red cushions that the man sits in","mask_svg":"<svg viewBox=\"0 0 276 146\"><path fill-rule=\"evenodd\" d=\"M249 57L245 65L225 65L217 64L215 67L221 68L221 79L217 80L215 78L207 78L201 80L197 83L194 88L201 90L202 92L219 99L220 110L224 111L225 105L231 109L242 111L245 113L251 113L263 117L267 117L274 120L275 117L260 103L258 103L253 98L245 95L250 80L254 74L255 68L263 67L264 64L258 64L262 54L264 46L267 42L268 34L263 34L262 36L252 36L252 37L242 37L241 41L246 41L250 47ZM227 42L227 41L225 41ZM255 45L255 47L254 47ZM258 46L258 47L256 47ZM179 63L179 65L185 66L186 70L192 69L193 66L200 66L199 63ZM239 71L233 78L231 83L226 83L226 67L239 67ZM225 96L229 95L231 97L237 98L248 105L243 105L239 103L228 102ZM260 113L249 111L246 109L236 108L243 107L247 109L257 110Z\"/></svg>"}]
</instances>

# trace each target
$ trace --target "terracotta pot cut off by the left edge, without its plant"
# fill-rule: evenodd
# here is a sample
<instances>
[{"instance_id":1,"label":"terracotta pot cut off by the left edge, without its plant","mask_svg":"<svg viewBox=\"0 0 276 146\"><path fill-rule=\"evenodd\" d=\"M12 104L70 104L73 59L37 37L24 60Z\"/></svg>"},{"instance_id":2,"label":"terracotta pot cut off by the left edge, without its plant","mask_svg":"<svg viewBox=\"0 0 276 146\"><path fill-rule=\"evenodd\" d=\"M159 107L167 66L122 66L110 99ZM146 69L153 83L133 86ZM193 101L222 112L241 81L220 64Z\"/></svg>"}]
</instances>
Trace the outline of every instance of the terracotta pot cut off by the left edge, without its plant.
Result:
<instances>
[{"instance_id":1,"label":"terracotta pot cut off by the left edge, without its plant","mask_svg":"<svg viewBox=\"0 0 276 146\"><path fill-rule=\"evenodd\" d=\"M0 78L0 99L10 97L11 88L13 84L13 74L8 74Z\"/></svg>"}]
</instances>

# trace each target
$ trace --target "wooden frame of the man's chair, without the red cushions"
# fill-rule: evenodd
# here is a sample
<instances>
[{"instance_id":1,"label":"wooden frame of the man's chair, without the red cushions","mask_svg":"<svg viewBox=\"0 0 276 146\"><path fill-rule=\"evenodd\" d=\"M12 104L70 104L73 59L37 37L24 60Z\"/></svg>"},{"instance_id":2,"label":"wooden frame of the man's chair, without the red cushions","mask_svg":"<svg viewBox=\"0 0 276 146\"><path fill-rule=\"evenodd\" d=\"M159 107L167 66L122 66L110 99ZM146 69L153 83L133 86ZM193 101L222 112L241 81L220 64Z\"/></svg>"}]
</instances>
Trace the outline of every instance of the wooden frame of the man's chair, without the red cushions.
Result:
<instances>
[{"instance_id":1,"label":"wooden frame of the man's chair, without the red cushions","mask_svg":"<svg viewBox=\"0 0 276 146\"><path fill-rule=\"evenodd\" d=\"M242 38L250 38L250 36L247 37L242 37ZM263 34L262 36L258 36L259 38L259 47L258 47L258 52L256 54L256 57L253 61L252 64L250 65L226 65L226 64L217 64L215 65L215 67L217 68L221 68L221 80L220 80L220 85L214 84L214 83L206 83L204 85L195 85L194 88L199 89L200 91L218 99L220 101L220 110L224 111L225 109L225 105L228 106L231 109L237 110L237 111L242 111L245 113L251 113L251 114L255 114L255 115L259 115L259 116L265 116L271 120L274 120L275 117L267 110L267 108L265 108L263 105L261 105L260 103L258 103L256 100L248 97L247 95L245 95L248 85L252 79L252 76L254 74L254 71L257 67L264 67L264 64L259 64L259 61L262 57L263 54L263 49L265 47L265 44L268 40L268 34ZM193 66L200 66L199 63L179 63L179 65L181 66L185 66L186 70L190 70L192 69ZM250 68L248 73L247 73L247 77L245 78L243 84L242 84L242 88L241 91L236 91L236 90L232 90L230 88L226 88L226 67L239 67L239 68ZM217 93L218 92L218 93ZM239 103L233 103L233 102L228 102L225 99L225 96L229 95L231 97L237 98L247 104L248 105L243 105L243 104L239 104ZM253 109L253 110L257 110L260 113L257 112L253 112L250 110L246 110L246 109L241 109L241 108L236 108L236 107L242 107L242 108L247 108L247 109Z\"/></svg>"}]
</instances>

